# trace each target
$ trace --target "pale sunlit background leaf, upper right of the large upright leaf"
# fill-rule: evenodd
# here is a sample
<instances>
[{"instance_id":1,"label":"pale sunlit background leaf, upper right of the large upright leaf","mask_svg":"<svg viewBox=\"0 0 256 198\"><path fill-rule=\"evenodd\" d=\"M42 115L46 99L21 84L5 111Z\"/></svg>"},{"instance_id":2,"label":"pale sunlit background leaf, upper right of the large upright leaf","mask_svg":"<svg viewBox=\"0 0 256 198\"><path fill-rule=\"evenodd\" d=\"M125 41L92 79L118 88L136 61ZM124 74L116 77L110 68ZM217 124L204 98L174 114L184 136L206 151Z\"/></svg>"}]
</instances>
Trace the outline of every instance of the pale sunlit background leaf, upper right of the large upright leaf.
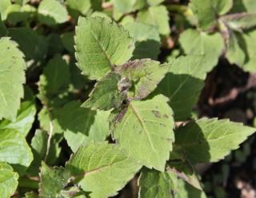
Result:
<instances>
[{"instance_id":1,"label":"pale sunlit background leaf, upper right of the large upright leaf","mask_svg":"<svg viewBox=\"0 0 256 198\"><path fill-rule=\"evenodd\" d=\"M156 26L160 34L170 34L169 14L166 6L150 6L138 12L137 21Z\"/></svg>"}]
</instances>

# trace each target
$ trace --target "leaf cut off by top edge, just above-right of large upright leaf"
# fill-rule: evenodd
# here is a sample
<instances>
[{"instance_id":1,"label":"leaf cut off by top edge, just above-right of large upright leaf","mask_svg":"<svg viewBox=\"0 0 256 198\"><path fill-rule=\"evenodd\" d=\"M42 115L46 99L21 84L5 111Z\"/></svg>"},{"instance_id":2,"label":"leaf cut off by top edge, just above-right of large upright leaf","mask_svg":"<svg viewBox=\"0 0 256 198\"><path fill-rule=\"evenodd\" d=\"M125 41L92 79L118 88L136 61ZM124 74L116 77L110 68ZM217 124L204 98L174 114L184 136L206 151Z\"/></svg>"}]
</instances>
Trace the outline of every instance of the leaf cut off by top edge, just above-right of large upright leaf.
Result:
<instances>
[{"instance_id":1,"label":"leaf cut off by top edge, just above-right of large upright leaf","mask_svg":"<svg viewBox=\"0 0 256 198\"><path fill-rule=\"evenodd\" d=\"M120 13L130 13L146 6L146 0L113 0L114 9Z\"/></svg>"}]
</instances>

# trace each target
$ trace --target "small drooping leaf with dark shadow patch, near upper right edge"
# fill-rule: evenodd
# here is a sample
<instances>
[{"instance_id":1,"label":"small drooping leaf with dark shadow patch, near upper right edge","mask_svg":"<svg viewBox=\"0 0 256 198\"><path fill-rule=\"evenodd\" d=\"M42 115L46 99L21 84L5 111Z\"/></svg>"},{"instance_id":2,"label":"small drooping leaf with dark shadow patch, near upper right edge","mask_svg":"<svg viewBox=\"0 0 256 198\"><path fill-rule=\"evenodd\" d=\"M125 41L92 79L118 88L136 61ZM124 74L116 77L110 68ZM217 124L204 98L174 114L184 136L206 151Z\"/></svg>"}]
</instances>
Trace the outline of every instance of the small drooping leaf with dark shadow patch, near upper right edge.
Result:
<instances>
[{"instance_id":1,"label":"small drooping leaf with dark shadow patch, near upper right edge","mask_svg":"<svg viewBox=\"0 0 256 198\"><path fill-rule=\"evenodd\" d=\"M246 61L246 52L242 47L242 36L230 31L230 39L227 45L226 58L230 64L242 66Z\"/></svg>"}]
</instances>

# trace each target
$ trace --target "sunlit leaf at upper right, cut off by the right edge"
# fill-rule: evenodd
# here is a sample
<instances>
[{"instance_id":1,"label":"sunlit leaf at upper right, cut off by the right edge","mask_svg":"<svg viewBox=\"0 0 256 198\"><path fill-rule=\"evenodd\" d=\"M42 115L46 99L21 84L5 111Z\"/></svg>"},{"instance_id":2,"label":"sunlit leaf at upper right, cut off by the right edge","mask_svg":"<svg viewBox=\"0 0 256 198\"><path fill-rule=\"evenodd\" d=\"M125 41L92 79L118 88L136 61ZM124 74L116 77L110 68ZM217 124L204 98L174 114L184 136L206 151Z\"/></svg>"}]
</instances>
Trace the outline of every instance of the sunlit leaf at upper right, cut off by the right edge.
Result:
<instances>
[{"instance_id":1,"label":"sunlit leaf at upper right, cut off by the right edge","mask_svg":"<svg viewBox=\"0 0 256 198\"><path fill-rule=\"evenodd\" d=\"M255 48L256 48L256 31L250 31L249 33L242 34L242 38L244 39L244 42L246 43L246 52L247 52L247 57L246 57L246 63L242 65L242 69L245 71L254 73L256 72L256 53L255 53Z\"/></svg>"}]
</instances>

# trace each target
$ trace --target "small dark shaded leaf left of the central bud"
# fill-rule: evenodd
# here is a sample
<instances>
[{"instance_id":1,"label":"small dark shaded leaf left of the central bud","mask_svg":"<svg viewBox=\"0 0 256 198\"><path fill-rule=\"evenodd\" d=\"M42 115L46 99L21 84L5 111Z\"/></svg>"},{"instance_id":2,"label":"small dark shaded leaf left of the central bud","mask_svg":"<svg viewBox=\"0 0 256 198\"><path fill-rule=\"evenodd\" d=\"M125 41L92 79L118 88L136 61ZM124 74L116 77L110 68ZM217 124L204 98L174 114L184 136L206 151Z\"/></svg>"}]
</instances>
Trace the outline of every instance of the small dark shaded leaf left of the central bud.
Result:
<instances>
[{"instance_id":1,"label":"small dark shaded leaf left of the central bud","mask_svg":"<svg viewBox=\"0 0 256 198\"><path fill-rule=\"evenodd\" d=\"M82 107L93 110L118 108L126 98L126 87L120 85L121 77L117 73L108 73L98 81Z\"/></svg>"}]
</instances>

